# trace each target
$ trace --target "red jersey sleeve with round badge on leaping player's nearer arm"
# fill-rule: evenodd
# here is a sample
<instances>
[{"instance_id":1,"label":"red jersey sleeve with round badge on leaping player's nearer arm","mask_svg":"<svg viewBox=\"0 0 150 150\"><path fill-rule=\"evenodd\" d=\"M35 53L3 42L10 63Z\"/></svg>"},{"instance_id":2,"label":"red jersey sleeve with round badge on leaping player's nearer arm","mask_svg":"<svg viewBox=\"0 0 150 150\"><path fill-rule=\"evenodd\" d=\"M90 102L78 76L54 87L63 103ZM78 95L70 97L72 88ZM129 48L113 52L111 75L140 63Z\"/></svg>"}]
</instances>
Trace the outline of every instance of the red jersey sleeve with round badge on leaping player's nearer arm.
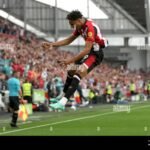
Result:
<instances>
[{"instance_id":1,"label":"red jersey sleeve with round badge on leaping player's nearer arm","mask_svg":"<svg viewBox=\"0 0 150 150\"><path fill-rule=\"evenodd\" d=\"M85 41L95 42L95 32L93 26L88 26L87 37Z\"/></svg>"}]
</instances>

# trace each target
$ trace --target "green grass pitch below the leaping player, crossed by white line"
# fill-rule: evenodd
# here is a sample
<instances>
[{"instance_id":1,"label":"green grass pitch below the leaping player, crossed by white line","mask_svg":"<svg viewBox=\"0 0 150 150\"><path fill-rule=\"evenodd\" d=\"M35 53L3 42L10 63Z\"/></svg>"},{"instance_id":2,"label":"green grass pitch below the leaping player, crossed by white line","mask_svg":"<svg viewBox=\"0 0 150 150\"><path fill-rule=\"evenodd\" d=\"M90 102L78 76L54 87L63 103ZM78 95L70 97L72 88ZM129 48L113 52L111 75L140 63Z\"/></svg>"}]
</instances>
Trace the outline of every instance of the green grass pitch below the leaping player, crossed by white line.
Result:
<instances>
[{"instance_id":1,"label":"green grass pitch below the leaping player, crossed by white line","mask_svg":"<svg viewBox=\"0 0 150 150\"><path fill-rule=\"evenodd\" d=\"M35 112L19 128L0 116L0 136L150 136L150 102L130 103L131 112L114 112L113 105L94 105L65 112Z\"/></svg>"}]
</instances>

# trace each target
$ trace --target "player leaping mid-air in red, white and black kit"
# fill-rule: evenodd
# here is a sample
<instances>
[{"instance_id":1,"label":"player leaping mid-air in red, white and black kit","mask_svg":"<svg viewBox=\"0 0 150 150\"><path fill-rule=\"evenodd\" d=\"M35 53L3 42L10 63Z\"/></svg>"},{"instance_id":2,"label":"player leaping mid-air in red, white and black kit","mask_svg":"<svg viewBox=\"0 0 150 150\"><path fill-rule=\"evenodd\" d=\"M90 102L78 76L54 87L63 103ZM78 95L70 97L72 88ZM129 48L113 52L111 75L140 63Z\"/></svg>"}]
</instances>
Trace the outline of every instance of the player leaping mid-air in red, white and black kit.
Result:
<instances>
[{"instance_id":1,"label":"player leaping mid-air in red, white and black kit","mask_svg":"<svg viewBox=\"0 0 150 150\"><path fill-rule=\"evenodd\" d=\"M54 110L64 109L69 98L76 91L80 80L85 77L94 67L99 65L103 60L103 48L107 46L107 40L102 37L99 27L90 19L83 17L78 10L73 10L67 15L67 20L70 26L74 29L73 33L61 41L53 43L44 42L44 49L69 45L79 35L85 40L84 49L75 57L70 59L60 60L60 65L67 66L69 64L77 65L76 70L69 70L67 79L64 85L64 97L50 107Z\"/></svg>"}]
</instances>

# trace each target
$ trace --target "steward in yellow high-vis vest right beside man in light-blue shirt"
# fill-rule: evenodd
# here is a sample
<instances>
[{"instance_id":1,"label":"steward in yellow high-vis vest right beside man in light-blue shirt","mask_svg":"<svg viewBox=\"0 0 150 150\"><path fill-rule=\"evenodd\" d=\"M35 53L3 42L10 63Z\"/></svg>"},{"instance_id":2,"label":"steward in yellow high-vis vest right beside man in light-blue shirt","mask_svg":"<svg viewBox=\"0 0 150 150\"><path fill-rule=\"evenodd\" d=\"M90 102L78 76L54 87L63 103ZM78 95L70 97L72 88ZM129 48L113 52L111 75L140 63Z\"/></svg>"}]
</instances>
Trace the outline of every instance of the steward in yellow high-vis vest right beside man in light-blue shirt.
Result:
<instances>
[{"instance_id":1,"label":"steward in yellow high-vis vest right beside man in light-blue shirt","mask_svg":"<svg viewBox=\"0 0 150 150\"><path fill-rule=\"evenodd\" d=\"M28 103L32 103L32 84L28 79L22 84L22 94L24 100L27 100Z\"/></svg>"}]
</instances>

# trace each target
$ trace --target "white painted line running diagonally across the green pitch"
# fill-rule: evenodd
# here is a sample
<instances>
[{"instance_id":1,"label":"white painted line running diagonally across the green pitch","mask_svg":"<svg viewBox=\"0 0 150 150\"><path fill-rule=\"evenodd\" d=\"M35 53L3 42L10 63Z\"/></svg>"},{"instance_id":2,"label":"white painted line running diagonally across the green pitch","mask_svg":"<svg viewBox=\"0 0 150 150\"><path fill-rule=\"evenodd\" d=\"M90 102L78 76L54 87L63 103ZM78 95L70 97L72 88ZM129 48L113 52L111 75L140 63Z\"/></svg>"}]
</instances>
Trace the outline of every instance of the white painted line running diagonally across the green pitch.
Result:
<instances>
[{"instance_id":1,"label":"white painted line running diagonally across the green pitch","mask_svg":"<svg viewBox=\"0 0 150 150\"><path fill-rule=\"evenodd\" d=\"M146 107L150 107L150 105L132 108L132 110L146 108ZM65 120L65 121L54 122L54 123L50 123L50 124L28 127L28 128L24 128L24 129L12 130L12 131L8 131L8 132L0 133L0 135L4 135L4 134L8 134L8 133L14 133L14 132L20 132L20 131L25 131L25 130L30 130L30 129L36 129L36 128L41 128L41 127L45 127L45 126L52 126L52 125L57 125L57 124L62 124L62 123L68 123L68 122L83 120L83 119L87 119L87 118L88 119L89 118L95 118L95 117L110 115L110 114L114 114L114 113L117 113L117 112L107 112L107 113L103 113L103 114L80 117L80 118L75 118L75 119L70 119L70 120Z\"/></svg>"}]
</instances>

